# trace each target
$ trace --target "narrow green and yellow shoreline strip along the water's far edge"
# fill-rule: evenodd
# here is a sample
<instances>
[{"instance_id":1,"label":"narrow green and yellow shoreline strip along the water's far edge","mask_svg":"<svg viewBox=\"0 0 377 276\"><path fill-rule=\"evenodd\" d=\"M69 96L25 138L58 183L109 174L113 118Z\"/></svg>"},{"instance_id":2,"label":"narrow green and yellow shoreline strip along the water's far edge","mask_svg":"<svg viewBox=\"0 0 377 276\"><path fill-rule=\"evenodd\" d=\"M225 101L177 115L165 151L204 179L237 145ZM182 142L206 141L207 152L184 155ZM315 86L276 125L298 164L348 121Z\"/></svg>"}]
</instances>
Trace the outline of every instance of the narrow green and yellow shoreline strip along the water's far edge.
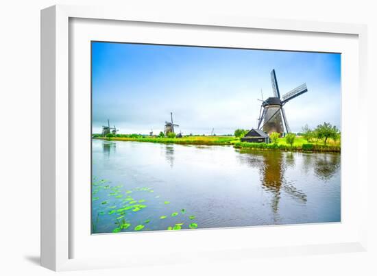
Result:
<instances>
[{"instance_id":1,"label":"narrow green and yellow shoreline strip along the water's far edge","mask_svg":"<svg viewBox=\"0 0 377 276\"><path fill-rule=\"evenodd\" d=\"M216 137L216 138L214 138ZM291 151L304 153L341 153L341 147L335 145L319 145L307 143L303 145L265 144L239 142L238 138L227 136L190 136L190 138L129 138L129 137L95 137L95 140L114 140L125 142L152 142L160 144L177 145L206 145L206 146L232 146L234 149L247 149L255 151Z\"/></svg>"}]
</instances>

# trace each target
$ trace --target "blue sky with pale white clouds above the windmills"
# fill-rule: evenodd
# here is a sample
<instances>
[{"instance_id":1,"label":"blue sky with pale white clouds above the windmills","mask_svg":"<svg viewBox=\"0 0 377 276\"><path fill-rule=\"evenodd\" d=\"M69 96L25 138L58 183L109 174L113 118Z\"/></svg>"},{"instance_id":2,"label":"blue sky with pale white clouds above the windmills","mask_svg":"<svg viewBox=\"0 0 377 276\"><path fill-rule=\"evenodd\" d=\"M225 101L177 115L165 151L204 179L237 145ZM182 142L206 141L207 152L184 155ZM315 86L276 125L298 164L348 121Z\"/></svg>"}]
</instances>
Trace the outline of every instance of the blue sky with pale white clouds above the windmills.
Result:
<instances>
[{"instance_id":1,"label":"blue sky with pale white clouds above the windmills","mask_svg":"<svg viewBox=\"0 0 377 276\"><path fill-rule=\"evenodd\" d=\"M291 131L328 122L340 129L341 54L92 42L92 128L154 134L165 121L182 134L233 134L257 127L262 93L273 97L303 84L284 105Z\"/></svg>"}]
</instances>

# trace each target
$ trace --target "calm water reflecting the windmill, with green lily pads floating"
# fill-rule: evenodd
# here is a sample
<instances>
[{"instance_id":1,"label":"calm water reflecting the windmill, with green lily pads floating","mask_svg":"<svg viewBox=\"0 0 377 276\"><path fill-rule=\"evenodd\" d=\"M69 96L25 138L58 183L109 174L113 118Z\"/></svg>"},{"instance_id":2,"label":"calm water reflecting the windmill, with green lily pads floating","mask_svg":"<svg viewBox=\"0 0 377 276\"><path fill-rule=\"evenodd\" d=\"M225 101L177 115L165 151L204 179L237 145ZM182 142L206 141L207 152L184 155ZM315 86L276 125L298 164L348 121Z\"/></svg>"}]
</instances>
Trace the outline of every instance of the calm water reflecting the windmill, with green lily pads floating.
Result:
<instances>
[{"instance_id":1,"label":"calm water reflecting the windmill, with green lily pads floating","mask_svg":"<svg viewBox=\"0 0 377 276\"><path fill-rule=\"evenodd\" d=\"M93 140L92 230L338 222L340 168L334 153Z\"/></svg>"}]
</instances>

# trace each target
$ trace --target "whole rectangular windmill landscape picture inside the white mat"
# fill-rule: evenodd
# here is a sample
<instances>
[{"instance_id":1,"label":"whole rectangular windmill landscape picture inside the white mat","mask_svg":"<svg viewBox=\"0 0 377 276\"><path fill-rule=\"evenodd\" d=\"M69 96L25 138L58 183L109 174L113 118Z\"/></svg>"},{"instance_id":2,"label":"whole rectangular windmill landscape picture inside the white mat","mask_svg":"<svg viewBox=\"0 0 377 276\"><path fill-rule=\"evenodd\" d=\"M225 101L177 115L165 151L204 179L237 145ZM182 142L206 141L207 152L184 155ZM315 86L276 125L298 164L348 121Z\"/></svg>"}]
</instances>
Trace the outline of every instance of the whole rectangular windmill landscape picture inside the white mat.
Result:
<instances>
[{"instance_id":1,"label":"whole rectangular windmill landscape picture inside the white mat","mask_svg":"<svg viewBox=\"0 0 377 276\"><path fill-rule=\"evenodd\" d=\"M341 221L341 54L91 42L91 233Z\"/></svg>"}]
</instances>

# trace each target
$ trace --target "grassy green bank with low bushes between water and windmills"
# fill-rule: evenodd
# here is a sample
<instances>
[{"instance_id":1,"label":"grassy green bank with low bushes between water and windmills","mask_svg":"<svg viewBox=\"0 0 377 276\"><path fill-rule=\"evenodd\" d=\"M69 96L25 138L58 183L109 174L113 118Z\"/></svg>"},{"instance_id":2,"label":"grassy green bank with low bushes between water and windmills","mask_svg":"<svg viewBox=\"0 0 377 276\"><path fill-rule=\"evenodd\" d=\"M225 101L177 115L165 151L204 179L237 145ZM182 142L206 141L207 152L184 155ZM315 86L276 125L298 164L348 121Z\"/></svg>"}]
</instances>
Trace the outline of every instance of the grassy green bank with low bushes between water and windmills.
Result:
<instances>
[{"instance_id":1,"label":"grassy green bank with low bushes between water and windmills","mask_svg":"<svg viewBox=\"0 0 377 276\"><path fill-rule=\"evenodd\" d=\"M340 152L340 142L329 140L315 143L307 142L302 137L296 137L293 145L289 145L285 138L279 138L276 144L241 142L234 136L184 136L182 138L159 138L159 137L111 137L96 139L117 140L117 141L134 141L134 142L155 142L162 144L180 144L180 145L233 145L236 149L265 149L280 151L313 151L313 152Z\"/></svg>"}]
</instances>

